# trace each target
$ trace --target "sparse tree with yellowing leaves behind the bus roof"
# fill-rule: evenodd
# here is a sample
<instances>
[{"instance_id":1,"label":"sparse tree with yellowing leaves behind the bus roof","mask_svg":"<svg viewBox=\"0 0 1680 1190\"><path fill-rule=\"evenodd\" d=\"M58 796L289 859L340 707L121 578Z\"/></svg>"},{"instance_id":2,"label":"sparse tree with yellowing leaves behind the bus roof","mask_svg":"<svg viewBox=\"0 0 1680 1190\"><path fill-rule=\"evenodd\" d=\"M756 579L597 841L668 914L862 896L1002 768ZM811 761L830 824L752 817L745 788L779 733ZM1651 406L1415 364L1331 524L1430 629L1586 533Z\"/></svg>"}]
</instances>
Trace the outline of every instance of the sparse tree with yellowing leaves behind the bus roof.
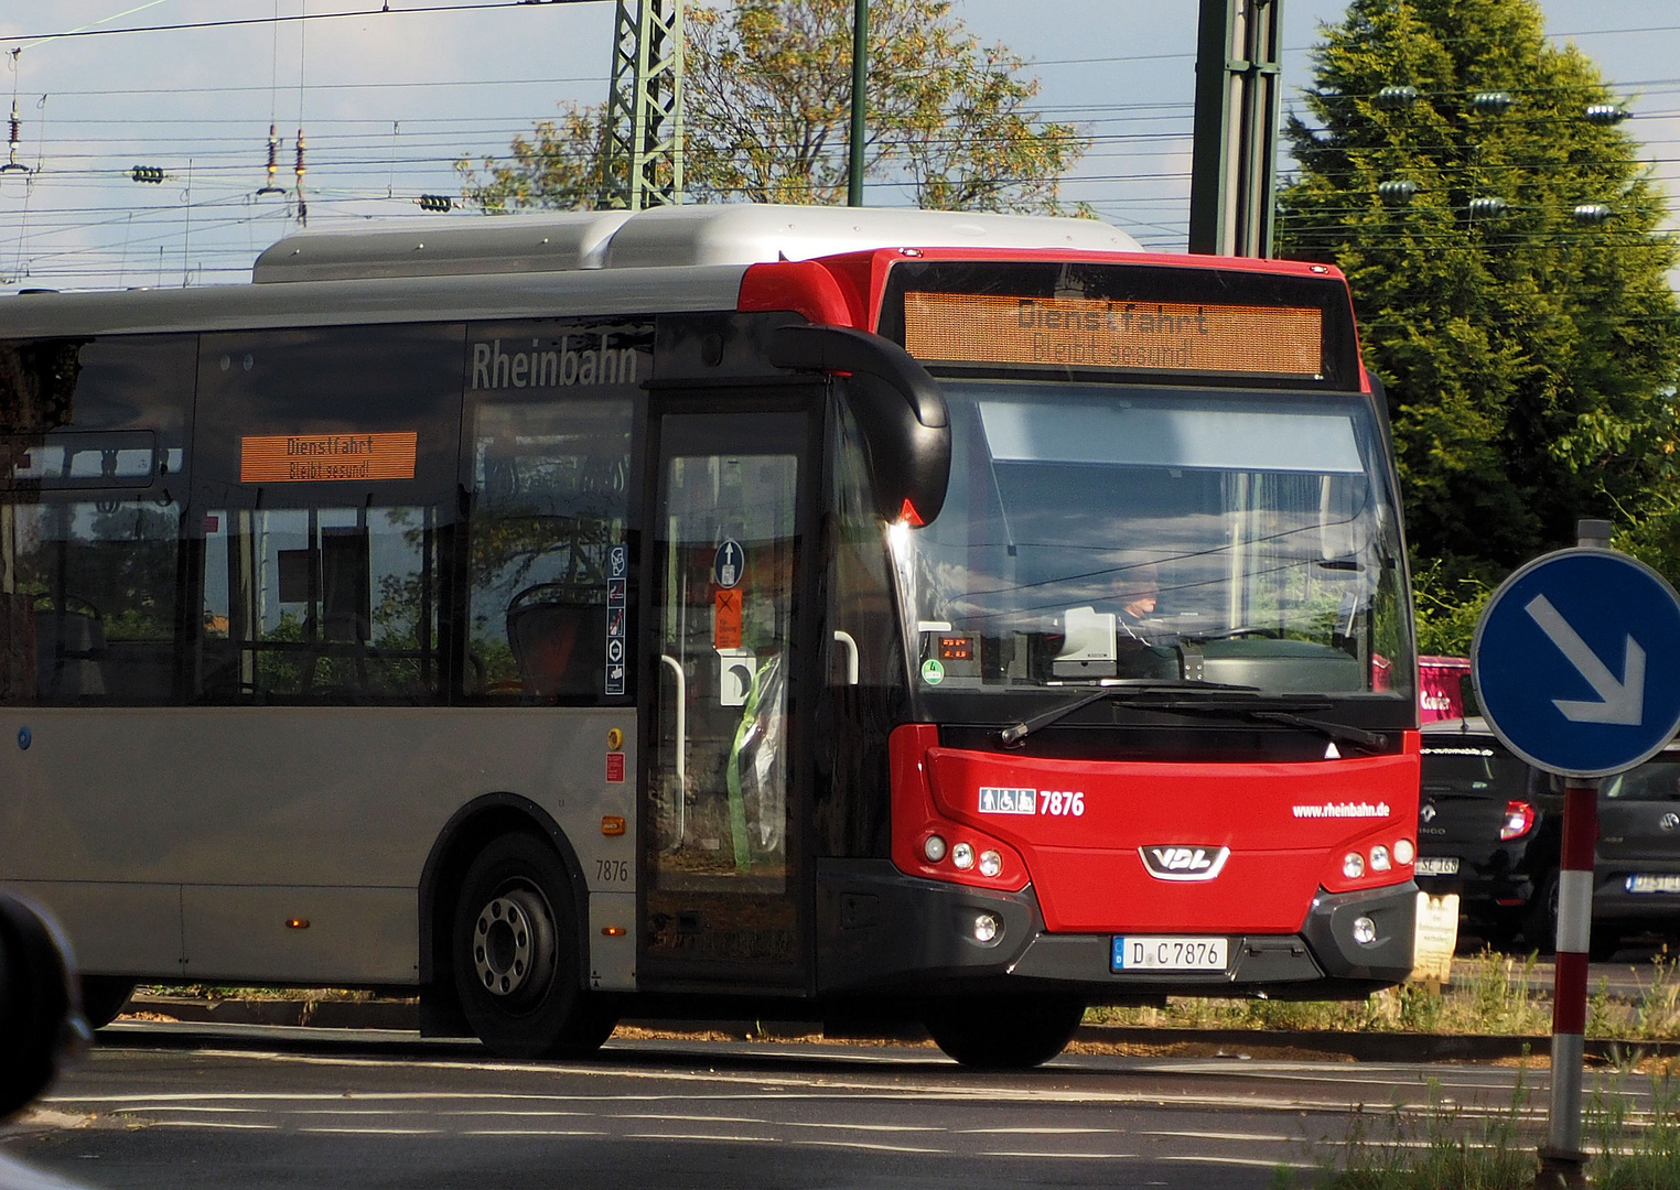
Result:
<instances>
[{"instance_id":1,"label":"sparse tree with yellowing leaves behind the bus roof","mask_svg":"<svg viewBox=\"0 0 1680 1190\"><path fill-rule=\"evenodd\" d=\"M696 201L838 203L847 188L852 0L739 0L687 8L684 186ZM1038 82L983 47L951 0L872 0L865 176L921 206L1057 211L1085 151L1038 121ZM460 161L489 211L588 208L601 190L603 111L568 106L511 156Z\"/></svg>"}]
</instances>

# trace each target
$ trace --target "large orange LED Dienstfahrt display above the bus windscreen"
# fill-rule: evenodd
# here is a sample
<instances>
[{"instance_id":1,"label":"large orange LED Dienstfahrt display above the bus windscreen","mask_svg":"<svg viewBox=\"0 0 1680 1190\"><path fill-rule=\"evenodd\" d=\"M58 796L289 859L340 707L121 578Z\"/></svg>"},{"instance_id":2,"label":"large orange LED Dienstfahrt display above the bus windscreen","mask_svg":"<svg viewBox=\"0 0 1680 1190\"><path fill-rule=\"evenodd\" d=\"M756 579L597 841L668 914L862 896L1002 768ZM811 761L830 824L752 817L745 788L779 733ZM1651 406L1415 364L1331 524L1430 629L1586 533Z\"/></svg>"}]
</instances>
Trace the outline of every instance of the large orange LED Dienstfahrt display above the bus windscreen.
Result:
<instances>
[{"instance_id":1,"label":"large orange LED Dienstfahrt display above the bus windscreen","mask_svg":"<svg viewBox=\"0 0 1680 1190\"><path fill-rule=\"evenodd\" d=\"M904 347L949 363L1315 378L1324 373L1324 312L909 292Z\"/></svg>"}]
</instances>

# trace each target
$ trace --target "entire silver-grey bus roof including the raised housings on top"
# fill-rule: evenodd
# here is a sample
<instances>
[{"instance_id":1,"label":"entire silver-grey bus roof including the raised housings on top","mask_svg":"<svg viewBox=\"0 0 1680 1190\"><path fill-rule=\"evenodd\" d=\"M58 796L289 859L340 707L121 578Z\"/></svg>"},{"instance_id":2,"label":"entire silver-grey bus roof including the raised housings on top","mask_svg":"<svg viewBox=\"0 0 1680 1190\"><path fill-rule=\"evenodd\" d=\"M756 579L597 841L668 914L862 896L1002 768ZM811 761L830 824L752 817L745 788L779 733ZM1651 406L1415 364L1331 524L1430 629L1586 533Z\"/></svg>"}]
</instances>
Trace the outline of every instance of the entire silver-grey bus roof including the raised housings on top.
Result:
<instances>
[{"instance_id":1,"label":"entire silver-grey bus roof including the raised housings on top","mask_svg":"<svg viewBox=\"0 0 1680 1190\"><path fill-rule=\"evenodd\" d=\"M1095 220L843 206L566 211L301 232L250 285L20 294L0 339L734 309L753 264L870 248L1141 253Z\"/></svg>"}]
</instances>

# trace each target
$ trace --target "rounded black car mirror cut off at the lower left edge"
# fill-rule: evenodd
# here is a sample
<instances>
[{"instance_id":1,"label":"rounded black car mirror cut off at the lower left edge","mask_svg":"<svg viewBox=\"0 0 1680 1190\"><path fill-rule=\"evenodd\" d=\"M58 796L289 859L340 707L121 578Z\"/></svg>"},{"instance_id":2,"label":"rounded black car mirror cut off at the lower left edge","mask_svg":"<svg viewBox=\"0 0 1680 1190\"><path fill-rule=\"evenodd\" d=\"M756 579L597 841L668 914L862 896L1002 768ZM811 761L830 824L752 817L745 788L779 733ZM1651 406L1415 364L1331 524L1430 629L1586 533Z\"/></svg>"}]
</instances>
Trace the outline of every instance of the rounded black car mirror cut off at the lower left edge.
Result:
<instances>
[{"instance_id":1,"label":"rounded black car mirror cut off at the lower left edge","mask_svg":"<svg viewBox=\"0 0 1680 1190\"><path fill-rule=\"evenodd\" d=\"M0 891L0 1120L27 1108L89 1041L64 932Z\"/></svg>"}]
</instances>

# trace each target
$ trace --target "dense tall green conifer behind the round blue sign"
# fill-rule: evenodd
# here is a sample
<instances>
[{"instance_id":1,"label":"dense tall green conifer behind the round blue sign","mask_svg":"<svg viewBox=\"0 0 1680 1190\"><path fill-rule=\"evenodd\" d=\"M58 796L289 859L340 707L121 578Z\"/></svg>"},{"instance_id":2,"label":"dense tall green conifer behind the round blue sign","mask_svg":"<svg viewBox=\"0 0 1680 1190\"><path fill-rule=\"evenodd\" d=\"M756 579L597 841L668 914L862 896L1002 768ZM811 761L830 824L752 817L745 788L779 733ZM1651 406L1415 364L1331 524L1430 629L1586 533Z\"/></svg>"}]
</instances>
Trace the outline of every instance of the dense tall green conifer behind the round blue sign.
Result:
<instances>
[{"instance_id":1,"label":"dense tall green conifer behind the round blue sign","mask_svg":"<svg viewBox=\"0 0 1680 1190\"><path fill-rule=\"evenodd\" d=\"M1320 29L1314 123L1285 133L1278 242L1349 277L1436 616L1581 515L1645 519L1672 477L1665 203L1640 146L1583 117L1616 102L1598 69L1542 29L1534 0L1352 0ZM1416 191L1384 201L1384 181ZM1588 203L1608 222L1578 222Z\"/></svg>"}]
</instances>

